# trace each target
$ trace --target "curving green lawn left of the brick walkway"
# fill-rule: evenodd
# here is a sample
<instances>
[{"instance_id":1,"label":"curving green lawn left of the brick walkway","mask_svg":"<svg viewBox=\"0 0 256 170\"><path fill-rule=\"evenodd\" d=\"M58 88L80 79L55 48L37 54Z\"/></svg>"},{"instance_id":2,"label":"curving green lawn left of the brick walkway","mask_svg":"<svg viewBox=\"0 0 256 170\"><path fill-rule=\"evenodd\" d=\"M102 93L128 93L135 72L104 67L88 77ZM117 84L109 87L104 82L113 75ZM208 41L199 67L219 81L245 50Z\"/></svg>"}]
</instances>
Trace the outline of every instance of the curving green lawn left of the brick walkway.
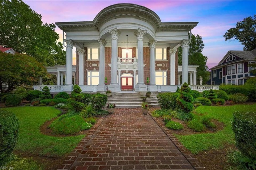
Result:
<instances>
[{"instance_id":1,"label":"curving green lawn left of the brick walkway","mask_svg":"<svg viewBox=\"0 0 256 170\"><path fill-rule=\"evenodd\" d=\"M39 128L57 117L61 111L54 107L8 107L19 119L19 136L15 151L47 157L69 154L85 135L54 137L41 134Z\"/></svg>"}]
</instances>

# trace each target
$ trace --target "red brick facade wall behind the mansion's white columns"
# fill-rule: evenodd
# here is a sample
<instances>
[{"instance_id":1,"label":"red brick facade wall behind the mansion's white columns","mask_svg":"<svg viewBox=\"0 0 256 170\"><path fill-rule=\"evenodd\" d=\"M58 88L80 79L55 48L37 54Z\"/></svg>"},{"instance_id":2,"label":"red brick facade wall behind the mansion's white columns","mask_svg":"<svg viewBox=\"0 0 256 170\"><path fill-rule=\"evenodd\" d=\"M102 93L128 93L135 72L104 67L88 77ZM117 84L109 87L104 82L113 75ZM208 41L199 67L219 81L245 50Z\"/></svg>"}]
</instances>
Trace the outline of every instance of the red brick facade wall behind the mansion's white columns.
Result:
<instances>
[{"instance_id":1,"label":"red brick facade wall behind the mansion's white columns","mask_svg":"<svg viewBox=\"0 0 256 170\"><path fill-rule=\"evenodd\" d=\"M158 71L166 71L167 69L167 85L170 85L170 54L169 54L169 47L167 48L167 60L165 61L155 61L155 70ZM87 47L85 47L85 54L87 54ZM118 47L118 56L121 56L121 47ZM136 47L133 47L133 57L136 58ZM143 47L143 60L144 60L144 83L147 83L147 77L150 80L150 48ZM96 66L97 64L97 66ZM105 77L107 77L106 85L109 85L111 82L111 47L105 47ZM157 66L157 64L162 64L162 66ZM87 60L87 55L84 55L84 85L87 85L87 70L88 71L99 71L99 61L90 61ZM121 71L121 74L125 73L126 71ZM129 73L133 74L133 71L128 71ZM136 72L137 74L137 72ZM118 75L118 73L117 73ZM76 52L76 84L79 82L79 55ZM175 84L178 84L178 52L175 54Z\"/></svg>"}]
</instances>

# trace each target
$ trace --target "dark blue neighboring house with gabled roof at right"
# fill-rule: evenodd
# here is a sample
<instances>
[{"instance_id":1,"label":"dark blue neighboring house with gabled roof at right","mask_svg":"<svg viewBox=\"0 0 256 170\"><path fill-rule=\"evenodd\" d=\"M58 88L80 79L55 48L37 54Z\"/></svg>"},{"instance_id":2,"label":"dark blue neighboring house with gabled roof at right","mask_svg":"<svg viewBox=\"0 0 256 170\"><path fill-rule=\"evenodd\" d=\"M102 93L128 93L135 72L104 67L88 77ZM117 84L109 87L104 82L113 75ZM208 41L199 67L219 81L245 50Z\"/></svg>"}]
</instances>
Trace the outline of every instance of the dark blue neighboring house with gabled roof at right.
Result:
<instances>
[{"instance_id":1,"label":"dark blue neighboring house with gabled roof at right","mask_svg":"<svg viewBox=\"0 0 256 170\"><path fill-rule=\"evenodd\" d=\"M211 84L243 85L246 80L256 75L250 73L255 68L248 64L255 63L256 49L252 51L228 51L218 65L211 68Z\"/></svg>"}]
</instances>

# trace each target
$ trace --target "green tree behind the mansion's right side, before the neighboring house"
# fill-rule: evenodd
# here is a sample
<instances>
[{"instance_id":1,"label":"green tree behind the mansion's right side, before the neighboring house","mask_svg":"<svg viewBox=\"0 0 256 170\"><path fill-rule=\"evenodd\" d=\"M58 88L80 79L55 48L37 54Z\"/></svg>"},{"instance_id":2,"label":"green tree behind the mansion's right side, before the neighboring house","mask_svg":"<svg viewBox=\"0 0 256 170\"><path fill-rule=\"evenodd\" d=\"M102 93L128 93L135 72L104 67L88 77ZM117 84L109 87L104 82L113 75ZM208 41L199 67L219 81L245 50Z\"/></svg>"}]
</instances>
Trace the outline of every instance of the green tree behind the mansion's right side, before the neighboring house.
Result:
<instances>
[{"instance_id":1,"label":"green tree behind the mansion's right side, before the neighboring house","mask_svg":"<svg viewBox=\"0 0 256 170\"><path fill-rule=\"evenodd\" d=\"M208 71L207 57L202 54L203 47L202 36L199 34L191 35L191 43L189 44L189 65L199 65L197 68L197 84L199 84L199 77L202 76L203 84L209 80L210 73ZM178 48L178 65L182 65L182 48ZM190 82L190 79L189 79Z\"/></svg>"}]
</instances>

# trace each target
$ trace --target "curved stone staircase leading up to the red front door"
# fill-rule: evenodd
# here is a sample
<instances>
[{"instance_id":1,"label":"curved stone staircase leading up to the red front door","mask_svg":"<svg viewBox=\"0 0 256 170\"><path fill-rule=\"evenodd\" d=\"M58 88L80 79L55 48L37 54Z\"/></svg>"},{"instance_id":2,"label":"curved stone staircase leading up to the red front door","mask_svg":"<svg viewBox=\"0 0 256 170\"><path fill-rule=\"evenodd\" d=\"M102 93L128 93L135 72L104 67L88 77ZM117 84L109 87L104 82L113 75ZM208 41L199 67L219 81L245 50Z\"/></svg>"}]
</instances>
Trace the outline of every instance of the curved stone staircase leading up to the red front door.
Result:
<instances>
[{"instance_id":1,"label":"curved stone staircase leading up to the red front door","mask_svg":"<svg viewBox=\"0 0 256 170\"><path fill-rule=\"evenodd\" d=\"M157 94L157 92L151 92L150 97L147 97L146 102L149 106L158 106ZM139 95L139 93L135 92L118 92L108 97L107 104L115 103L116 108L141 108L143 97L146 97L146 95Z\"/></svg>"}]
</instances>

